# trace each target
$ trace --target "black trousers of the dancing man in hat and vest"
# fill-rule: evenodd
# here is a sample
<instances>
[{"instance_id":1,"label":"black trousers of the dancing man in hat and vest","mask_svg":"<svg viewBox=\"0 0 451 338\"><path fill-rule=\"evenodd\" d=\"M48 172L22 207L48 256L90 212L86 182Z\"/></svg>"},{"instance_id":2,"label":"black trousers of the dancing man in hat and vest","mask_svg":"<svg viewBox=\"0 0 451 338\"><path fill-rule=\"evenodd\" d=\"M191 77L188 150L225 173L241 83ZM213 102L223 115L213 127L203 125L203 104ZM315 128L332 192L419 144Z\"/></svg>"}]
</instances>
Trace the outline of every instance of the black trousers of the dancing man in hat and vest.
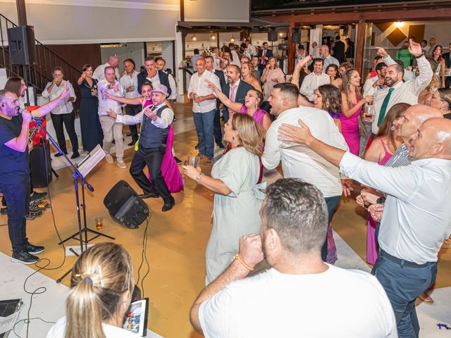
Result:
<instances>
[{"instance_id":1,"label":"black trousers of the dancing man in hat and vest","mask_svg":"<svg viewBox=\"0 0 451 338\"><path fill-rule=\"evenodd\" d=\"M171 201L171 192L161 175L161 162L166 151L166 147L159 148L142 148L140 145L138 151L133 156L130 165L130 174L137 184L140 186L144 194L158 192L165 203ZM149 181L142 171L147 165L152 182Z\"/></svg>"}]
</instances>

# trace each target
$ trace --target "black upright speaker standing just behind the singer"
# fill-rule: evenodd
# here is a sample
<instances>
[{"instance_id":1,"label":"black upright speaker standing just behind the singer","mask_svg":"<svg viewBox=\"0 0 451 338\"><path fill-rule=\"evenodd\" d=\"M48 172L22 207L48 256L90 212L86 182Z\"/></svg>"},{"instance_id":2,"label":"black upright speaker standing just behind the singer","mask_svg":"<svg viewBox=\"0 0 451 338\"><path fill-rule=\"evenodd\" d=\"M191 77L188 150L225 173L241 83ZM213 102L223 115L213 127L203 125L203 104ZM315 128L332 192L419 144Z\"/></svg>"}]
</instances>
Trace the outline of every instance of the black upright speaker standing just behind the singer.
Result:
<instances>
[{"instance_id":1,"label":"black upright speaker standing just behind the singer","mask_svg":"<svg viewBox=\"0 0 451 338\"><path fill-rule=\"evenodd\" d=\"M30 151L30 168L33 187L47 187L47 182L50 183L52 178L50 143L48 139L45 143L33 146L32 151Z\"/></svg>"}]
</instances>

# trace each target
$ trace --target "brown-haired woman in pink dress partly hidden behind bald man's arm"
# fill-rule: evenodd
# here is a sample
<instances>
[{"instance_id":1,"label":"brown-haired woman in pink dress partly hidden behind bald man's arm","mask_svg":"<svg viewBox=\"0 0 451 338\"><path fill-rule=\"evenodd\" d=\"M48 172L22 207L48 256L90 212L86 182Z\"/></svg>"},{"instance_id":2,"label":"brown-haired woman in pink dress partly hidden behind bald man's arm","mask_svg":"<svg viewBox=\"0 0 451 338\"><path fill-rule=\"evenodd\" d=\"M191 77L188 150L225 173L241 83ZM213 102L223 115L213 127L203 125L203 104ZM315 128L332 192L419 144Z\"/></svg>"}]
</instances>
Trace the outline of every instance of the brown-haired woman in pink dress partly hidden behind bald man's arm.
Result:
<instances>
[{"instance_id":1,"label":"brown-haired woman in pink dress partly hidden behind bald man's arm","mask_svg":"<svg viewBox=\"0 0 451 338\"><path fill-rule=\"evenodd\" d=\"M366 151L366 161L385 165L396 149L402 145L402 138L395 135L393 121L400 118L402 113L404 113L409 106L409 104L395 104L388 110L382 121L381 128L379 128L378 134ZM362 196L365 196L366 193L379 194L371 188L362 189ZM357 196L360 201L362 201L362 196ZM376 258L378 258L376 225L376 220L373 220L370 213L368 213L368 224L366 228L366 262L371 265L373 265Z\"/></svg>"}]
</instances>

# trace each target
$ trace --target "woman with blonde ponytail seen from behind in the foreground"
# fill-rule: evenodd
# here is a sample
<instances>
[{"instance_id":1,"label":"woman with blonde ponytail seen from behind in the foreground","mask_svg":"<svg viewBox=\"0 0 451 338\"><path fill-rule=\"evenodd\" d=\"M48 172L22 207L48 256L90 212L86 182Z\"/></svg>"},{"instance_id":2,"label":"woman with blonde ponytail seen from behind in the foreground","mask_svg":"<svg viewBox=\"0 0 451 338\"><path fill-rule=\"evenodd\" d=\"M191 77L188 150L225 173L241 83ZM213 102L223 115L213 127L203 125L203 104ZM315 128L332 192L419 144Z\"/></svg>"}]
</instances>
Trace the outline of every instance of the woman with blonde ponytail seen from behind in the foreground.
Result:
<instances>
[{"instance_id":1,"label":"woman with blonde ponytail seen from behind in the foreground","mask_svg":"<svg viewBox=\"0 0 451 338\"><path fill-rule=\"evenodd\" d=\"M73 267L66 317L58 320L47 338L136 337L121 328L134 285L133 265L123 246L90 247Z\"/></svg>"}]
</instances>

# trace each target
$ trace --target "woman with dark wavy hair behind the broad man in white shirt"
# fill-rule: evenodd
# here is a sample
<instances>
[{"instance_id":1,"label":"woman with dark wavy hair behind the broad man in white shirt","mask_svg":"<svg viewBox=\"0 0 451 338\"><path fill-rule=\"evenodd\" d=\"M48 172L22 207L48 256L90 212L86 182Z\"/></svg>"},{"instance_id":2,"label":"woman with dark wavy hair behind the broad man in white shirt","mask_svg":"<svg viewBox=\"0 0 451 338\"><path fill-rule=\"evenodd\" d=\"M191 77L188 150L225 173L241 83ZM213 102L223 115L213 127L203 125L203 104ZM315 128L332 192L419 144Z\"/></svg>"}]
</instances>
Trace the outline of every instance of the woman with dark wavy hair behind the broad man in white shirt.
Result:
<instances>
[{"instance_id":1,"label":"woman with dark wavy hair behind the broad man in white shirt","mask_svg":"<svg viewBox=\"0 0 451 338\"><path fill-rule=\"evenodd\" d=\"M341 96L340 89L333 84L323 84L314 90L314 107L327 111L341 132Z\"/></svg>"}]
</instances>

